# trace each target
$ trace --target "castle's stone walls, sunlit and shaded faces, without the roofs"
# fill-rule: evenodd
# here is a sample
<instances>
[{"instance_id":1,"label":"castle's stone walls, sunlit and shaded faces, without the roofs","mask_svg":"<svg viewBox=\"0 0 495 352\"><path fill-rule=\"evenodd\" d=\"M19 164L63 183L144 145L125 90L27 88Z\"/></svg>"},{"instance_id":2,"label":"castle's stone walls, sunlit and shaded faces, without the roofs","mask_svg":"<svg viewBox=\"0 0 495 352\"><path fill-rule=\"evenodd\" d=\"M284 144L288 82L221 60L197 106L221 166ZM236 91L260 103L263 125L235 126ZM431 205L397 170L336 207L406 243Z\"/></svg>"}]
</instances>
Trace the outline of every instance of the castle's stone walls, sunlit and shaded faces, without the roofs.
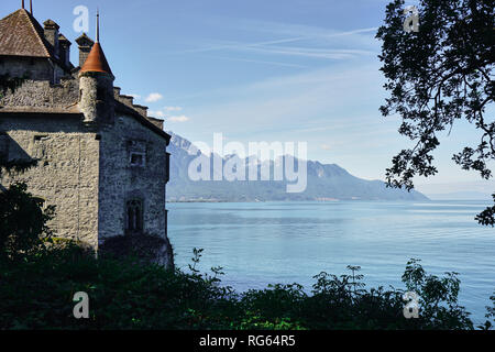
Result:
<instances>
[{"instance_id":1,"label":"castle's stone walls, sunlit and shaded faces, without the roofs","mask_svg":"<svg viewBox=\"0 0 495 352\"><path fill-rule=\"evenodd\" d=\"M40 158L25 174L2 175L1 186L25 182L33 195L56 206L48 224L55 235L96 250L106 239L127 233L127 204L139 199L143 232L166 240L158 262L173 267L166 237L165 139L136 117L114 116L113 77L69 76L57 85L51 79L26 80L0 99L1 144L7 134L9 160ZM132 98L124 100L133 108ZM144 107L139 112L144 114ZM163 127L160 120L148 121ZM133 165L131 154L142 156L143 164Z\"/></svg>"}]
</instances>

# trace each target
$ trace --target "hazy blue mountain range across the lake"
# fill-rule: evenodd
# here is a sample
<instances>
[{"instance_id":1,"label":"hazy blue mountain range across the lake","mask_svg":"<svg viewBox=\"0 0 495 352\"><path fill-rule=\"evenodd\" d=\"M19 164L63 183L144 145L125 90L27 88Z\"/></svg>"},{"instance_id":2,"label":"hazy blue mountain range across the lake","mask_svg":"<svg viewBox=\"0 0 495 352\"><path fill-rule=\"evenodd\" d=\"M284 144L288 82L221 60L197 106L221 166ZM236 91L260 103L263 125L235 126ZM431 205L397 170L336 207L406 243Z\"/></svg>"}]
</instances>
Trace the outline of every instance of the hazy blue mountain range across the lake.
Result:
<instances>
[{"instance_id":1,"label":"hazy blue mountain range across the lake","mask_svg":"<svg viewBox=\"0 0 495 352\"><path fill-rule=\"evenodd\" d=\"M193 182L188 177L189 164L202 154L186 139L168 133L172 135L168 146L168 152L172 154L170 180L167 185L168 201L428 200L418 191L408 193L387 188L381 180L364 180L352 176L338 165L324 165L311 161L307 162L307 188L300 194L288 194L286 182ZM190 152L191 148L195 153ZM202 155L202 157L207 156ZM210 173L212 173L213 156L209 158ZM223 158L222 163L232 158L239 158L239 156L230 155ZM276 163L284 163L284 161L279 158ZM270 165L273 167L274 162ZM260 164L257 173L257 179L260 179Z\"/></svg>"}]
</instances>

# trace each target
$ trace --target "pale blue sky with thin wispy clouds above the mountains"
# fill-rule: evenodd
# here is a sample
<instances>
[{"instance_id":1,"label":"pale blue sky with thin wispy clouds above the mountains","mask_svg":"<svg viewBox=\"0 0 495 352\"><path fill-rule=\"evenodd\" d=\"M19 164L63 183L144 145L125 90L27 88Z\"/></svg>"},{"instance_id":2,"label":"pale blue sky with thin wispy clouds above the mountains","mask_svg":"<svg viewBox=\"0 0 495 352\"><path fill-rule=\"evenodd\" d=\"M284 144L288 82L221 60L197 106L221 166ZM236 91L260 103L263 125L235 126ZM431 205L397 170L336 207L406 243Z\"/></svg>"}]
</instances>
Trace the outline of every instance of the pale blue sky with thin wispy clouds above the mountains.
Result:
<instances>
[{"instance_id":1,"label":"pale blue sky with thin wispy clouds above the mountains","mask_svg":"<svg viewBox=\"0 0 495 352\"><path fill-rule=\"evenodd\" d=\"M26 0L26 3L29 1ZM398 118L383 118L387 92L378 70L384 0L33 0L34 16L52 19L73 42L74 9L89 9L116 86L165 130L212 145L307 142L308 158L338 164L365 179L384 179L392 157L410 146ZM406 4L415 4L414 1ZM0 16L21 7L2 0ZM417 178L427 195L491 194L495 182L460 169L452 155L479 139L469 123L440 135L439 174ZM492 169L495 165L492 165Z\"/></svg>"}]
</instances>

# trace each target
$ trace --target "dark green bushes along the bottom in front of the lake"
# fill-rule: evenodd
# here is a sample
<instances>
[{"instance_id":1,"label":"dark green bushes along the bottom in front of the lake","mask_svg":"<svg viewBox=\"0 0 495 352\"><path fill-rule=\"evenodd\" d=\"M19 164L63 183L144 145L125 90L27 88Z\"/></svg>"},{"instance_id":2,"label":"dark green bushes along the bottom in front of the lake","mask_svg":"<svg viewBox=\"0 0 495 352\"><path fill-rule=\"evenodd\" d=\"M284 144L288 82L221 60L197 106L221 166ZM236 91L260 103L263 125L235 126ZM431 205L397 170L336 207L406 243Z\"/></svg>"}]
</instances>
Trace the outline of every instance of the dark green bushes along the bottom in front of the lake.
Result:
<instances>
[{"instance_id":1,"label":"dark green bushes along the bottom in front of the lake","mask_svg":"<svg viewBox=\"0 0 495 352\"><path fill-rule=\"evenodd\" d=\"M198 260L202 251L194 253ZM406 287L421 295L420 318L410 320L403 315L404 292L364 289L358 267L351 275L317 275L311 294L297 284L238 294L219 285L221 270L210 276L191 268L97 258L70 244L0 262L0 330L473 329L458 306L459 280L427 275L418 261L404 274ZM89 319L73 317L77 292L89 295Z\"/></svg>"}]
</instances>

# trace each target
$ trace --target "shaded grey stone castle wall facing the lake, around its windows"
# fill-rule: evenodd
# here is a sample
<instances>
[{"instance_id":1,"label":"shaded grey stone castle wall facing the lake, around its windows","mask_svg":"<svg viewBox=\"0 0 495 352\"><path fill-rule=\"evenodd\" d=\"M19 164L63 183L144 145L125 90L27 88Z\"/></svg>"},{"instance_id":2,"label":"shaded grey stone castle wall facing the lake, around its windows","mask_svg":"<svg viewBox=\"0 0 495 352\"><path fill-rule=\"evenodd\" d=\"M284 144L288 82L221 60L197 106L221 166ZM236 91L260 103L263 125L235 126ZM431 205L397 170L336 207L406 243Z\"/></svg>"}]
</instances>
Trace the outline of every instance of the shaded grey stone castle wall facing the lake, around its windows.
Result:
<instances>
[{"instance_id":1,"label":"shaded grey stone castle wall facing the lake, around its windows","mask_svg":"<svg viewBox=\"0 0 495 352\"><path fill-rule=\"evenodd\" d=\"M143 201L144 232L166 237L166 142L132 117L117 116L101 132L100 239L125 232L128 200ZM145 165L132 166L130 153L144 152Z\"/></svg>"}]
</instances>

